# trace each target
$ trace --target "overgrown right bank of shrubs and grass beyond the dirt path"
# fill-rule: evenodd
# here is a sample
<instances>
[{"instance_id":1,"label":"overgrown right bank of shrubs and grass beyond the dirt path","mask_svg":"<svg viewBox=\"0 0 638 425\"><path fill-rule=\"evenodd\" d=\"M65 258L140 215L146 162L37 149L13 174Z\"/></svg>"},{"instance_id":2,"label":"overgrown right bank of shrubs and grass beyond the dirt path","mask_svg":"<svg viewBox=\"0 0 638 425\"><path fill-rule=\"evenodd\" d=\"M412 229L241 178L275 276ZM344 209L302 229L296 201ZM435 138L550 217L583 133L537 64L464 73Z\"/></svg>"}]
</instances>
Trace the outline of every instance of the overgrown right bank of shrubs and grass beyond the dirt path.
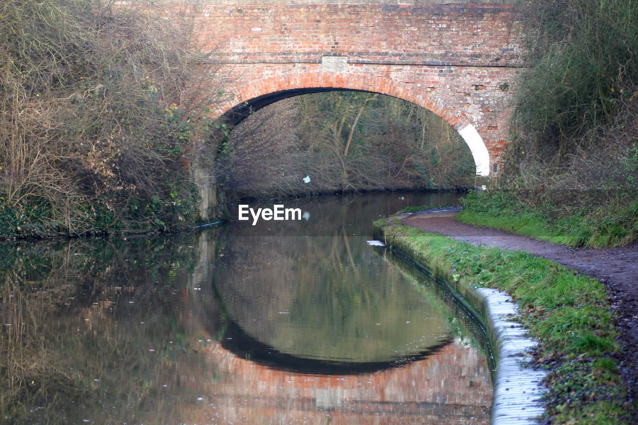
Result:
<instances>
[{"instance_id":1,"label":"overgrown right bank of shrubs and grass beyond the dirt path","mask_svg":"<svg viewBox=\"0 0 638 425\"><path fill-rule=\"evenodd\" d=\"M630 244L638 239L638 3L523 7L531 54L500 190L469 205L505 220L533 216L577 246Z\"/></svg>"}]
</instances>

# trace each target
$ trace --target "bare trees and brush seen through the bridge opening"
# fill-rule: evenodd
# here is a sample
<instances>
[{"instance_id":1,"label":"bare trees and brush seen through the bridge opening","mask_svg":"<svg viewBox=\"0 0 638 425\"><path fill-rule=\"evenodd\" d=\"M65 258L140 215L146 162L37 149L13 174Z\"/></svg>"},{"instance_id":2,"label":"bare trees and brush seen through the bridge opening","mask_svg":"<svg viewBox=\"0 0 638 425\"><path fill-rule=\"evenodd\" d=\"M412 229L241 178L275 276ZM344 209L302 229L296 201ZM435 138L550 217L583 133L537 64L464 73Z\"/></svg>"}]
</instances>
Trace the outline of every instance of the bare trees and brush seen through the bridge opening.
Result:
<instances>
[{"instance_id":1,"label":"bare trees and brush seen through the bridge opening","mask_svg":"<svg viewBox=\"0 0 638 425\"><path fill-rule=\"evenodd\" d=\"M249 197L456 189L474 177L470 150L445 121L389 96L345 91L256 111L232 130L220 167L226 190Z\"/></svg>"}]
</instances>

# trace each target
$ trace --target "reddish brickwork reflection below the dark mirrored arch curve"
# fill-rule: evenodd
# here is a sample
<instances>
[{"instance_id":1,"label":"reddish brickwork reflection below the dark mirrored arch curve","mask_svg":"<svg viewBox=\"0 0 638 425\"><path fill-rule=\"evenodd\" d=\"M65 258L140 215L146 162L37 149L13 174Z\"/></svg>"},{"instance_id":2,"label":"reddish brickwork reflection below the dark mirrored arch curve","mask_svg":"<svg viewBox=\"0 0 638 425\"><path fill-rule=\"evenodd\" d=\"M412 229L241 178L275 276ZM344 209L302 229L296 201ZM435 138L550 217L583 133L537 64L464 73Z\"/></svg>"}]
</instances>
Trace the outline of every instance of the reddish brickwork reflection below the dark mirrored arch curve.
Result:
<instances>
[{"instance_id":1,"label":"reddish brickwork reflection below the dark mirrored arch curve","mask_svg":"<svg viewBox=\"0 0 638 425\"><path fill-rule=\"evenodd\" d=\"M487 424L486 359L456 340L403 368L355 376L302 375L259 366L212 341L202 348L216 377L181 371L204 396L184 407L194 423ZM206 395L207 394L207 395Z\"/></svg>"}]
</instances>

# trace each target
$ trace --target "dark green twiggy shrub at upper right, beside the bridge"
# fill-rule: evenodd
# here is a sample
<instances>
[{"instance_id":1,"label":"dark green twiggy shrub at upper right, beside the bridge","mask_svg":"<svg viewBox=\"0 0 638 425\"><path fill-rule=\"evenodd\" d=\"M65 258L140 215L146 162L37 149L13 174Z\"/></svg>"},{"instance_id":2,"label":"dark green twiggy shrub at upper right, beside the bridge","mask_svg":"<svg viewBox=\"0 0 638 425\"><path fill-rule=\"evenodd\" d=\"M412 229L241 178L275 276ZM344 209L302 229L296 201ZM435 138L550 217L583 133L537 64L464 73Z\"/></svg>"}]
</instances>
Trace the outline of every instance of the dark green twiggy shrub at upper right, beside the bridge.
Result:
<instances>
[{"instance_id":1,"label":"dark green twiggy shrub at upper right, beside the bridge","mask_svg":"<svg viewBox=\"0 0 638 425\"><path fill-rule=\"evenodd\" d=\"M543 0L530 2L526 15L530 68L517 93L517 136L558 163L588 144L605 145L594 133L638 98L638 4Z\"/></svg>"}]
</instances>

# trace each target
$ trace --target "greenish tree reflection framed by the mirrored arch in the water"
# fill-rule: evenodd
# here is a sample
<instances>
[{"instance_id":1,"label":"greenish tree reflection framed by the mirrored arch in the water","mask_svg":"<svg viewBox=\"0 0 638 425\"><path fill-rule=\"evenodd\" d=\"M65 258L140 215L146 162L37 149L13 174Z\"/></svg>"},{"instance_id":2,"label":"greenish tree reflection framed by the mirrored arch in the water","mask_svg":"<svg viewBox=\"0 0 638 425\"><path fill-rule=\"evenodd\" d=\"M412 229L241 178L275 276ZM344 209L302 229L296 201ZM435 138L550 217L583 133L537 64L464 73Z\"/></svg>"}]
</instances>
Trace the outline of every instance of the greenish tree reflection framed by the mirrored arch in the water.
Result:
<instances>
[{"instance_id":1,"label":"greenish tree reflection framed by the mirrored arch in the water","mask_svg":"<svg viewBox=\"0 0 638 425\"><path fill-rule=\"evenodd\" d=\"M447 317L362 237L231 238L224 253L213 276L228 313L281 353L399 361L449 338Z\"/></svg>"}]
</instances>

